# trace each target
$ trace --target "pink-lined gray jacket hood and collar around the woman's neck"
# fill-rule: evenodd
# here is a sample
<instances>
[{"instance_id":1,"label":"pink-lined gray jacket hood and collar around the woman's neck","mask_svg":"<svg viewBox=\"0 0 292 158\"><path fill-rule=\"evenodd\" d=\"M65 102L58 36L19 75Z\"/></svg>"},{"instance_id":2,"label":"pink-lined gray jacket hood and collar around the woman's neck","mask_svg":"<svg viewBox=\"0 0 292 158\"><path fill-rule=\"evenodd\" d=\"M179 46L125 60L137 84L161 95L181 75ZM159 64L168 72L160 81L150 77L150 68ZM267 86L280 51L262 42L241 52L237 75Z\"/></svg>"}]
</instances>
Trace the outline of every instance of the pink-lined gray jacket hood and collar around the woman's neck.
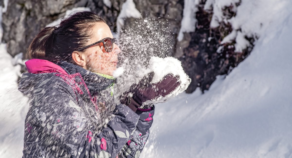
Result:
<instances>
[{"instance_id":1,"label":"pink-lined gray jacket hood and collar around the woman's neck","mask_svg":"<svg viewBox=\"0 0 292 158\"><path fill-rule=\"evenodd\" d=\"M50 74L60 73L65 76L80 74L86 83L91 95L98 91L105 90L114 84L115 79L106 78L97 73L93 73L80 66L68 62L53 63L43 59L30 59L25 62L28 73L24 73L19 83L20 92L26 94L28 89L36 84L49 80Z\"/></svg>"}]
</instances>

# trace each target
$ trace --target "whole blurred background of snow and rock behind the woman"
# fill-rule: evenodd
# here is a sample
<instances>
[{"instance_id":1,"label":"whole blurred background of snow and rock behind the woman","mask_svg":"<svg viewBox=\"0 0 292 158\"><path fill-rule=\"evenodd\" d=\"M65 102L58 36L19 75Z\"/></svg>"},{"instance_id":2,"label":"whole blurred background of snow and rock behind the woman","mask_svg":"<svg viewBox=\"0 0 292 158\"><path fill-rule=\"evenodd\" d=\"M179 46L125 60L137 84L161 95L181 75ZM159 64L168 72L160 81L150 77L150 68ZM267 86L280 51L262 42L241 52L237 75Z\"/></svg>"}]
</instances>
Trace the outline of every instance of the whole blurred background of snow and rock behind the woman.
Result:
<instances>
[{"instance_id":1,"label":"whole blurred background of snow and rock behind the woman","mask_svg":"<svg viewBox=\"0 0 292 158\"><path fill-rule=\"evenodd\" d=\"M171 23L192 78L156 106L141 157L292 157L291 0L0 1L0 157L21 157L28 99L17 91L22 54L46 25L74 10L105 17L113 32L133 19Z\"/></svg>"}]
</instances>

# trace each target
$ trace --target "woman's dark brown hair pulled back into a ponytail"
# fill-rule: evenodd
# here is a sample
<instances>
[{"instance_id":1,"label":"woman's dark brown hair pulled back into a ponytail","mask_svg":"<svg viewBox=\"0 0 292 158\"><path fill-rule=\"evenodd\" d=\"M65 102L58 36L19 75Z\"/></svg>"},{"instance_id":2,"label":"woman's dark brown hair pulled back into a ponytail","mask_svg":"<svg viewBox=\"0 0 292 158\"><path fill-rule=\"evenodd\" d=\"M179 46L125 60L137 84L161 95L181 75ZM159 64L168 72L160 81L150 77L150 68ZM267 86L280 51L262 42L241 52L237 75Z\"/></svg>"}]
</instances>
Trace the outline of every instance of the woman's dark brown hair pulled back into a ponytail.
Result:
<instances>
[{"instance_id":1,"label":"woman's dark brown hair pulled back into a ponytail","mask_svg":"<svg viewBox=\"0 0 292 158\"><path fill-rule=\"evenodd\" d=\"M86 46L96 22L106 23L99 15L82 11L63 19L58 27L45 27L30 43L26 58L71 60L72 52Z\"/></svg>"}]
</instances>

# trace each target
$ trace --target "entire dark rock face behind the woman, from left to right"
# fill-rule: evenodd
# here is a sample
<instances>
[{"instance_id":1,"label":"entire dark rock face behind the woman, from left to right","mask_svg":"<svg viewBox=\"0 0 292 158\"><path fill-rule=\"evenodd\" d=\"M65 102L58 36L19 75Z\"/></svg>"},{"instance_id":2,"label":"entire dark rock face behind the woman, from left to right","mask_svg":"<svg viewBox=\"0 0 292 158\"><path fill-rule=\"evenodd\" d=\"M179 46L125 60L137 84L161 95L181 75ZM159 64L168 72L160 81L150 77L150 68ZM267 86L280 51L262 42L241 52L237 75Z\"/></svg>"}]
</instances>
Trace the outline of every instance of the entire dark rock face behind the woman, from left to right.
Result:
<instances>
[{"instance_id":1,"label":"entire dark rock face behind the woman, from left to right","mask_svg":"<svg viewBox=\"0 0 292 158\"><path fill-rule=\"evenodd\" d=\"M30 42L41 29L63 17L66 10L75 7L90 8L104 17L110 29L116 31L117 17L126 0L109 1L111 6L105 5L103 0L10 0L8 10L3 14L2 41L8 44L8 53L12 56L20 52L25 53ZM220 23L220 27L210 28L213 13L203 10L206 0L201 1L199 11L196 13L198 20L196 31L184 33L182 41L178 41L177 36L183 18L184 0L133 1L143 17L151 17L171 24L173 47L169 50L170 55L180 59L185 72L192 78L187 93L193 92L197 87L202 92L209 89L217 75L229 73L252 50L253 38L246 38L250 41L251 47L241 53L234 52L235 42L220 44L220 41L232 31L232 27ZM230 18L236 15L232 11L232 6L226 7L224 12ZM131 22L133 19L127 18L125 27ZM220 46L222 49L216 52Z\"/></svg>"}]
</instances>

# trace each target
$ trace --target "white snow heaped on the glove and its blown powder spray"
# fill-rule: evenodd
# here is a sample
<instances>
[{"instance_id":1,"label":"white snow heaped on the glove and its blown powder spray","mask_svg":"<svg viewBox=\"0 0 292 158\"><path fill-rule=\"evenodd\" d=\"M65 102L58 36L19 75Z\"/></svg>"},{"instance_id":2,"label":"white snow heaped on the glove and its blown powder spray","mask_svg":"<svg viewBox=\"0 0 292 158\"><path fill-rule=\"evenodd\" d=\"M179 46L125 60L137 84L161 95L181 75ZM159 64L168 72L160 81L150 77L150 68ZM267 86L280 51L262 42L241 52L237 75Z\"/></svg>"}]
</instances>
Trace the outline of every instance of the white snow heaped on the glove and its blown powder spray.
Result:
<instances>
[{"instance_id":1,"label":"white snow heaped on the glove and its blown powder spray","mask_svg":"<svg viewBox=\"0 0 292 158\"><path fill-rule=\"evenodd\" d=\"M179 76L180 85L165 97L157 97L143 103L166 102L185 91L191 79L181 66L178 59L169 57L171 43L169 23L159 22L154 19L144 18L135 20L130 27L119 34L119 65L114 72L117 78L116 97L128 91L132 84L138 83L145 75L154 72L150 84L157 83L169 73Z\"/></svg>"}]
</instances>

